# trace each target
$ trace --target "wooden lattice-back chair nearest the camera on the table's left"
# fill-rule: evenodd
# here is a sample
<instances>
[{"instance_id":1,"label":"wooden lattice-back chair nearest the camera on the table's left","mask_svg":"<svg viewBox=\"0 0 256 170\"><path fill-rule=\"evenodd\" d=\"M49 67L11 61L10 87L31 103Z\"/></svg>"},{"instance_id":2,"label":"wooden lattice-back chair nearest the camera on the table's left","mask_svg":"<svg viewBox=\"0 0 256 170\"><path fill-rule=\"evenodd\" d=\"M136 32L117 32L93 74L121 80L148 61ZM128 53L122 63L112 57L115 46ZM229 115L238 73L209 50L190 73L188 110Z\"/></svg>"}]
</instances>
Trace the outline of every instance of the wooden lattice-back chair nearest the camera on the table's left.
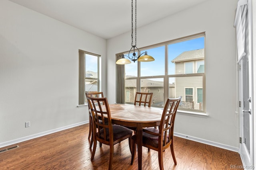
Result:
<instances>
[{"instance_id":1,"label":"wooden lattice-back chair nearest the camera on the table's left","mask_svg":"<svg viewBox=\"0 0 256 170\"><path fill-rule=\"evenodd\" d=\"M107 98L92 98L86 96L88 104L92 111L92 135L93 135L93 150L91 160L94 159L97 141L110 146L110 156L108 169L112 170L112 162L114 155L114 145L125 139L129 139L129 148L131 150L132 131L120 125L112 125L110 108ZM104 103L104 105L103 105ZM100 121L102 120L102 121ZM108 123L106 123L108 122ZM96 129L98 128L98 131Z\"/></svg>"}]
</instances>

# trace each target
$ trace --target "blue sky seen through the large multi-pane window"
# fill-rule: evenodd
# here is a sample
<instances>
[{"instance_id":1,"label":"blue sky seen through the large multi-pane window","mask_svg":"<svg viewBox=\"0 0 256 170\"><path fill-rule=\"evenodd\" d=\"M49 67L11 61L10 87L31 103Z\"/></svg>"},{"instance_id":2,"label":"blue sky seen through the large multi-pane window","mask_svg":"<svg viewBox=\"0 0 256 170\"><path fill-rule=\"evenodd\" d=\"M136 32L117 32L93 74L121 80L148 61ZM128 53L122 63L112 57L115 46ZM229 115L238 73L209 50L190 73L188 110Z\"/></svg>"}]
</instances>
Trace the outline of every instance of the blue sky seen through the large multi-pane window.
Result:
<instances>
[{"instance_id":1,"label":"blue sky seen through the large multi-pane window","mask_svg":"<svg viewBox=\"0 0 256 170\"><path fill-rule=\"evenodd\" d=\"M174 74L175 64L171 61L184 51L191 51L204 48L204 37L173 43L168 45L168 74ZM154 57L152 62L139 62L141 65L140 76L164 75L164 46L147 49L148 55ZM144 53L145 51L141 51ZM132 56L132 54L130 54ZM126 76L137 76L138 61L125 65ZM156 79L154 79L156 81ZM162 80L162 79L161 79Z\"/></svg>"}]
</instances>

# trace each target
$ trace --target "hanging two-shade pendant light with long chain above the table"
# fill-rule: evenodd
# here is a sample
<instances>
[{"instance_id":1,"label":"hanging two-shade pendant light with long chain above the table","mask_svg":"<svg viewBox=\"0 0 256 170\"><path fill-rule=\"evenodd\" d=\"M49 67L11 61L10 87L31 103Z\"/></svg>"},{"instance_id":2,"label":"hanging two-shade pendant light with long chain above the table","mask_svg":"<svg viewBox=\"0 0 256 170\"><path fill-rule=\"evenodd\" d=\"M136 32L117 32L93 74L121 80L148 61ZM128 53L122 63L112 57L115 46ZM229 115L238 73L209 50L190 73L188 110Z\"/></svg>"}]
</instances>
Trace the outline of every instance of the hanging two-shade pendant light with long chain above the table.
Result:
<instances>
[{"instance_id":1,"label":"hanging two-shade pendant light with long chain above the table","mask_svg":"<svg viewBox=\"0 0 256 170\"><path fill-rule=\"evenodd\" d=\"M135 61L140 61L140 62L149 62L149 61L154 61L155 59L148 55L147 51L144 53L140 54L140 50L136 47L136 38L137 38L137 0L135 0L135 45L133 45L133 0L132 0L132 48L130 49L128 56L123 55L121 59L116 61L116 64L130 64L131 61L135 63ZM136 51L138 51L138 56L136 56ZM132 53L132 56L130 56L130 53ZM144 54L144 55L143 55ZM143 56L142 56L143 55ZM128 57L130 60L124 58Z\"/></svg>"}]
</instances>

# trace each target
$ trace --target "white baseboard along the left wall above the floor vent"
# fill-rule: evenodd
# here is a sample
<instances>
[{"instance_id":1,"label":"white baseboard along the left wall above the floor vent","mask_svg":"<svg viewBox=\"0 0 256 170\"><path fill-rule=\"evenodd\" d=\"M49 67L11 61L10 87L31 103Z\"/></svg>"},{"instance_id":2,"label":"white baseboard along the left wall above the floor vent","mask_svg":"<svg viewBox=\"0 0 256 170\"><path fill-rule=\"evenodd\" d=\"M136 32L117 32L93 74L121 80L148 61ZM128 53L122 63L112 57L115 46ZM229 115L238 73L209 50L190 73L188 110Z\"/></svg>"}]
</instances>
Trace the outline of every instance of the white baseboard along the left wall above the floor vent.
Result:
<instances>
[{"instance_id":1,"label":"white baseboard along the left wall above the floor vent","mask_svg":"<svg viewBox=\"0 0 256 170\"><path fill-rule=\"evenodd\" d=\"M10 146L10 145L14 145L14 144L16 144L16 143L28 141L28 140L30 140L30 139L35 139L35 138L37 138L37 137L42 137L42 136L44 136L44 135L49 135L49 134L51 134L51 133L55 133L55 132L58 132L58 131L63 131L63 130L65 130L65 129L70 129L70 128L72 128L72 127L84 125L84 124L86 124L86 123L89 123L89 121L83 121L83 122L80 122L80 123L75 123L75 124L73 124L73 125L68 125L68 126L64 126L64 127L57 128L57 129L52 129L52 130L50 130L50 131L45 131L45 132L42 132L42 133L37 133L37 134L34 134L34 135L22 137L22 138L19 138L19 139L14 139L14 140L8 141L8 142L3 142L3 143L0 143L0 148L6 147L6 146Z\"/></svg>"}]
</instances>

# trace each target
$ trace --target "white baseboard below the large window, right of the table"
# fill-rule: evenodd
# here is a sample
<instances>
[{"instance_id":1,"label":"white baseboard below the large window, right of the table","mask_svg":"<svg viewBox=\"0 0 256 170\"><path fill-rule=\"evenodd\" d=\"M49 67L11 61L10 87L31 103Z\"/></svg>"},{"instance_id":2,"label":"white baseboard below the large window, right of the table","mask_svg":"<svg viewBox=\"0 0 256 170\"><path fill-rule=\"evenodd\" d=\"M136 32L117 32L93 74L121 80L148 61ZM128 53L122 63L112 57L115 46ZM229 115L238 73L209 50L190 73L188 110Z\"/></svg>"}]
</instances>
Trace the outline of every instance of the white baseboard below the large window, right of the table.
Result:
<instances>
[{"instance_id":1,"label":"white baseboard below the large window, right of the table","mask_svg":"<svg viewBox=\"0 0 256 170\"><path fill-rule=\"evenodd\" d=\"M184 139L188 139L188 140L191 140L191 141L204 143L206 145L211 145L211 146L214 146L214 147L218 147L218 148L222 148L222 149L226 149L226 150L231 150L231 151L239 153L239 148L237 148L237 147L232 147L232 146L229 146L229 145L224 145L222 143L208 141L208 140L205 140L205 139L200 139L200 138L197 138L197 137L188 136L188 135L184 135L184 134L181 134L181 133L175 133L174 132L173 135L176 136L176 137L182 137Z\"/></svg>"}]
</instances>

